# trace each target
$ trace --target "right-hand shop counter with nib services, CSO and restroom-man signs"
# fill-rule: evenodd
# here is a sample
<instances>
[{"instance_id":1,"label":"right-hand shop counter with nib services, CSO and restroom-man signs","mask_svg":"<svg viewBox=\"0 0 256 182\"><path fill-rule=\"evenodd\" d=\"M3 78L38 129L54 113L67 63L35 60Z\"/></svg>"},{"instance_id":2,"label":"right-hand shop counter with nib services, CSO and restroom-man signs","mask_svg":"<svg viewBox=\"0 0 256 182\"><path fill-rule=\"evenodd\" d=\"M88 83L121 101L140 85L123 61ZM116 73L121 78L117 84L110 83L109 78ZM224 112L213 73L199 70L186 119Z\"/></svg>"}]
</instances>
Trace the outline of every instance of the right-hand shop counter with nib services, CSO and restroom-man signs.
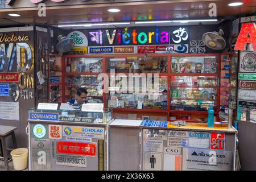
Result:
<instances>
[{"instance_id":1,"label":"right-hand shop counter with nib services, CSO and restroom-man signs","mask_svg":"<svg viewBox=\"0 0 256 182\"><path fill-rule=\"evenodd\" d=\"M143 121L141 129L142 170L235 169L237 130L220 124Z\"/></svg>"}]
</instances>

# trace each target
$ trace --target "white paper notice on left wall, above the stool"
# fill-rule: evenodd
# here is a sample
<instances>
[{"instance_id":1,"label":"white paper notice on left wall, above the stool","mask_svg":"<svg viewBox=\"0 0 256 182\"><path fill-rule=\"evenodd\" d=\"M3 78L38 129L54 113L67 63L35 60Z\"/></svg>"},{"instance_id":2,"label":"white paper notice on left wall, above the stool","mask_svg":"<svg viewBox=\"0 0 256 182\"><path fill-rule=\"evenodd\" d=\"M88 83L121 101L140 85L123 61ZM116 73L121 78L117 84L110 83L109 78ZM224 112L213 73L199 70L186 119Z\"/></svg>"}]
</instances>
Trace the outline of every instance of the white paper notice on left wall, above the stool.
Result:
<instances>
[{"instance_id":1,"label":"white paper notice on left wall, above the stool","mask_svg":"<svg viewBox=\"0 0 256 182\"><path fill-rule=\"evenodd\" d=\"M19 102L0 102L0 119L19 121Z\"/></svg>"}]
</instances>

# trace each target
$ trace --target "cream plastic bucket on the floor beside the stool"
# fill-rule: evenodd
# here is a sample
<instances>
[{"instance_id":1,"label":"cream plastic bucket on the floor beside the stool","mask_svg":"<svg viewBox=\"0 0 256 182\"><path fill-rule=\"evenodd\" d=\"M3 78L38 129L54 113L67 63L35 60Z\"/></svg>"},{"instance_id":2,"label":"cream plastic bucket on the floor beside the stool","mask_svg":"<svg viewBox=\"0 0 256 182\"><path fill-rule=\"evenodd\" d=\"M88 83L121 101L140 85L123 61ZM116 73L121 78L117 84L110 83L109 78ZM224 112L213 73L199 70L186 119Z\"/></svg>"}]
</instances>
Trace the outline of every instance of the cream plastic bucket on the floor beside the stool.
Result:
<instances>
[{"instance_id":1,"label":"cream plastic bucket on the floor beside the stool","mask_svg":"<svg viewBox=\"0 0 256 182\"><path fill-rule=\"evenodd\" d=\"M16 171L27 168L27 148L16 148L11 151L11 158L13 158L13 167Z\"/></svg>"}]
</instances>

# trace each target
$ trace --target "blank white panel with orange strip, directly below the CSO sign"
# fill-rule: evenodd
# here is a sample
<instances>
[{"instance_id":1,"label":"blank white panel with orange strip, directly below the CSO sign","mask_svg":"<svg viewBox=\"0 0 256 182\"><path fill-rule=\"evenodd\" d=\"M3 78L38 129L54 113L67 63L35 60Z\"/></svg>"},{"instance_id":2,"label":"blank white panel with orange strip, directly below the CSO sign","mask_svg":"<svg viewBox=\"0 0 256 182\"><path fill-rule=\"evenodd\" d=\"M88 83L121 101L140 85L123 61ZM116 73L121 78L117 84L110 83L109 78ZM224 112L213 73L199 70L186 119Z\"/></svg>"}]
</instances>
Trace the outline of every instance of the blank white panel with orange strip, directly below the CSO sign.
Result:
<instances>
[{"instance_id":1,"label":"blank white panel with orange strip, directly below the CSO sign","mask_svg":"<svg viewBox=\"0 0 256 182\"><path fill-rule=\"evenodd\" d=\"M164 171L181 171L181 155L164 154Z\"/></svg>"}]
</instances>

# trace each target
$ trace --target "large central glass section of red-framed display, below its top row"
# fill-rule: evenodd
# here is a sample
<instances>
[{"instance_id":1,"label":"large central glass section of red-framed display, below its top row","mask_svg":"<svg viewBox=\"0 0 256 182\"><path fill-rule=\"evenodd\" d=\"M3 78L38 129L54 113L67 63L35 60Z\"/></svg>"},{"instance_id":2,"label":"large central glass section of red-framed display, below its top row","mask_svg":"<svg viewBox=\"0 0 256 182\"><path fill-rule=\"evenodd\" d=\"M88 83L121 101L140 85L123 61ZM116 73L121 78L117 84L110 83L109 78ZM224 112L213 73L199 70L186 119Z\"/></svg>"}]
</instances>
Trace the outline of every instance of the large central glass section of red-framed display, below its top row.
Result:
<instances>
[{"instance_id":1,"label":"large central glass section of red-framed display, below its top row","mask_svg":"<svg viewBox=\"0 0 256 182\"><path fill-rule=\"evenodd\" d=\"M116 78L114 84L110 82L108 107L167 109L167 81L167 76Z\"/></svg>"}]
</instances>

